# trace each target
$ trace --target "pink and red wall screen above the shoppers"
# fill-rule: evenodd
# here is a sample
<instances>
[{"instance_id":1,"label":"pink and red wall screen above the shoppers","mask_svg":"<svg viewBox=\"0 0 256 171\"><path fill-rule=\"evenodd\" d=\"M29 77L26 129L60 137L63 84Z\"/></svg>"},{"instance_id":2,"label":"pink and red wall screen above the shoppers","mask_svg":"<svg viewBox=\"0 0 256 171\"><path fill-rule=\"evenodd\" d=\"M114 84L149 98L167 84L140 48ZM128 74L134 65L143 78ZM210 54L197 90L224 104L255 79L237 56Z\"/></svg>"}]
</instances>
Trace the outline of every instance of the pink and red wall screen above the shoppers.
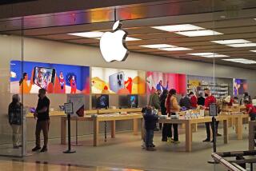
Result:
<instances>
[{"instance_id":1,"label":"pink and red wall screen above the shoppers","mask_svg":"<svg viewBox=\"0 0 256 171\"><path fill-rule=\"evenodd\" d=\"M147 72L146 92L152 93L155 89L176 89L177 93L186 93L186 75Z\"/></svg>"}]
</instances>

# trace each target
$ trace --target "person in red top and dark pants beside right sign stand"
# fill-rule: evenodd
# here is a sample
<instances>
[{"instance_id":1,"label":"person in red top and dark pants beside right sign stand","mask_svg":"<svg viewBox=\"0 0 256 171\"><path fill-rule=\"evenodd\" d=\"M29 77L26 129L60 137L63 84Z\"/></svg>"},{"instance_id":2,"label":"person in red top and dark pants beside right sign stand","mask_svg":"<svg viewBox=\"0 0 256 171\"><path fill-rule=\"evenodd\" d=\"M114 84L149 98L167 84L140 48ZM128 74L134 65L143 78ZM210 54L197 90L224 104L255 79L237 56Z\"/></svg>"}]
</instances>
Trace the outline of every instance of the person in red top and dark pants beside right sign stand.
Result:
<instances>
[{"instance_id":1,"label":"person in red top and dark pants beside right sign stand","mask_svg":"<svg viewBox=\"0 0 256 171\"><path fill-rule=\"evenodd\" d=\"M210 89L205 89L205 96L206 96L206 101L205 101L204 109L209 111L210 104L211 103L216 103L216 98L214 97L214 95L212 95L210 93ZM210 141L210 126L211 126L212 131L214 131L214 129L213 129L214 125L213 125L212 122L206 122L205 125L206 125L206 135L207 135L207 137L204 140L204 142L208 142L208 141ZM217 136L221 136L221 134L218 133L218 121L216 121L215 128L216 128Z\"/></svg>"}]
</instances>

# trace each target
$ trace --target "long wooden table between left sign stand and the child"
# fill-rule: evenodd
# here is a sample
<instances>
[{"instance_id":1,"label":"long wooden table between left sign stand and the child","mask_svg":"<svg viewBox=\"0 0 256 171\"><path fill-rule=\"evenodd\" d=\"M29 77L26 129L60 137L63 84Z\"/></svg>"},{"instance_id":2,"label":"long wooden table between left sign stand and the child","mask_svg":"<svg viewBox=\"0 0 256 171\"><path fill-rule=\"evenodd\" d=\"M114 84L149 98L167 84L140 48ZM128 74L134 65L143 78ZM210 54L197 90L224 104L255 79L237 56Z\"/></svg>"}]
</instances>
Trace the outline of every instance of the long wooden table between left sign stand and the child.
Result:
<instances>
[{"instance_id":1,"label":"long wooden table between left sign stand and the child","mask_svg":"<svg viewBox=\"0 0 256 171\"><path fill-rule=\"evenodd\" d=\"M141 113L128 113L128 114L102 114L97 117L85 116L85 117L71 117L71 121L93 121L94 123L94 146L98 146L99 141L99 122L110 121L111 122L111 137L115 137L115 125L116 121L133 120L134 122L134 135L138 135L138 124L141 121L142 125L142 114ZM61 118L61 144L66 144L66 117ZM142 129L143 131L143 129ZM143 134L143 133L142 133Z\"/></svg>"}]
</instances>

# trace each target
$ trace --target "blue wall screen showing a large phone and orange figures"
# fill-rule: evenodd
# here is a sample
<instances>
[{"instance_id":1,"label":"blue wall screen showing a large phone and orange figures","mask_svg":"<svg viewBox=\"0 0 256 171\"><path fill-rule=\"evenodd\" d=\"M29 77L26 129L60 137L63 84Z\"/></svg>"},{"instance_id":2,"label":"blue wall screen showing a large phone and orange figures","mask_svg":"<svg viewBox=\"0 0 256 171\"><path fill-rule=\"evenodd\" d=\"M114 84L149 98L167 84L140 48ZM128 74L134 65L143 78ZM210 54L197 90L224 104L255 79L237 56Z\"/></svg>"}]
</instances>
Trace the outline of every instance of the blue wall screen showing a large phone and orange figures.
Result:
<instances>
[{"instance_id":1,"label":"blue wall screen showing a large phone and orange figures","mask_svg":"<svg viewBox=\"0 0 256 171\"><path fill-rule=\"evenodd\" d=\"M10 62L10 92L90 93L90 67L41 62Z\"/></svg>"}]
</instances>

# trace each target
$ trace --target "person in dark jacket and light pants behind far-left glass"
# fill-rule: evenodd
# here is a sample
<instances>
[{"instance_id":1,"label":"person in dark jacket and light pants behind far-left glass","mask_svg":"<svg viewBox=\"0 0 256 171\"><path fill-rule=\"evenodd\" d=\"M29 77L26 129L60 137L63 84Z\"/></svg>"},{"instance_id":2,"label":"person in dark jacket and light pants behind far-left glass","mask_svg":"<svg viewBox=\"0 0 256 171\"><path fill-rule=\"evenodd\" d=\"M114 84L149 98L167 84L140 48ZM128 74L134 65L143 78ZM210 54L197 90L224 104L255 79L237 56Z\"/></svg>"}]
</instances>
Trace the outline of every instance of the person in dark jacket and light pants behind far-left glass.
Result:
<instances>
[{"instance_id":1,"label":"person in dark jacket and light pants behind far-left glass","mask_svg":"<svg viewBox=\"0 0 256 171\"><path fill-rule=\"evenodd\" d=\"M13 145L14 149L18 149L21 145L19 137L20 137L20 129L22 125L22 103L20 102L20 97L18 94L13 95L13 99L8 108L8 117L11 129L13 130Z\"/></svg>"}]
</instances>

